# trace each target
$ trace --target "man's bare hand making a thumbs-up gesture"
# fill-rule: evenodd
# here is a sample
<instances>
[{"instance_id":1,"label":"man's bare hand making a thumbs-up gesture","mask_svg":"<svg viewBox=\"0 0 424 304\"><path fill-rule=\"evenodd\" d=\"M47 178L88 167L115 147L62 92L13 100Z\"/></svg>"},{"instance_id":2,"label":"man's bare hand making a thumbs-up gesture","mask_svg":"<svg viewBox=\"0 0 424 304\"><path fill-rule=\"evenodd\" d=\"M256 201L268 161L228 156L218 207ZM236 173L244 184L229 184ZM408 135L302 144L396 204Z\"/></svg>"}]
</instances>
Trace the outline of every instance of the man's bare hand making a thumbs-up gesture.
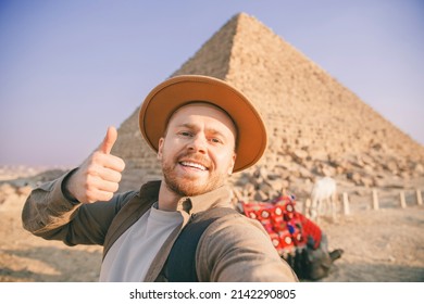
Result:
<instances>
[{"instance_id":1,"label":"man's bare hand making a thumbs-up gesture","mask_svg":"<svg viewBox=\"0 0 424 304\"><path fill-rule=\"evenodd\" d=\"M119 182L122 178L121 173L125 168L122 159L110 154L116 139L116 129L109 127L99 149L65 182L67 197L75 198L82 203L112 199L113 193L119 189Z\"/></svg>"}]
</instances>

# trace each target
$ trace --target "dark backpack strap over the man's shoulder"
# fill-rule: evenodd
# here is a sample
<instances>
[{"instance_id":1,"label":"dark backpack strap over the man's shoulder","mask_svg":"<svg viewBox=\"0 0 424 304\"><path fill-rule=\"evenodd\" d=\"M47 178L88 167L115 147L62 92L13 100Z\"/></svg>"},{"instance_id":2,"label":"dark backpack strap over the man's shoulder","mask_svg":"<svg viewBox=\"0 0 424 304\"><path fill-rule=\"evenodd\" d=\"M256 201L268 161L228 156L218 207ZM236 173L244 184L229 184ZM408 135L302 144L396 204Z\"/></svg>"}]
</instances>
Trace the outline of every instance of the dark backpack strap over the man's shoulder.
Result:
<instances>
[{"instance_id":1,"label":"dark backpack strap over the man's shoulder","mask_svg":"<svg viewBox=\"0 0 424 304\"><path fill-rule=\"evenodd\" d=\"M167 256L162 274L170 282L198 282L196 273L196 251L203 232L216 219L239 214L229 207L216 207L191 216L184 227Z\"/></svg>"}]
</instances>

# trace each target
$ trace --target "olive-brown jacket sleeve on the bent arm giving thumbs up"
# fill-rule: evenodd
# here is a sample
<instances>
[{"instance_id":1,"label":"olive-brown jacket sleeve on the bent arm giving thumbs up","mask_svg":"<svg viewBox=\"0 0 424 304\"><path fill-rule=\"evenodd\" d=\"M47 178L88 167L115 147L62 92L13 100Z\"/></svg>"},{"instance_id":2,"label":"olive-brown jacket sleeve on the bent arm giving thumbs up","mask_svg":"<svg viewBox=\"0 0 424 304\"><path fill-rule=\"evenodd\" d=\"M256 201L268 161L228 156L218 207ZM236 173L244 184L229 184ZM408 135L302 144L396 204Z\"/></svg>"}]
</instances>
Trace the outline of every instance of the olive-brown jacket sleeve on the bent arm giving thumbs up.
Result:
<instances>
[{"instance_id":1,"label":"olive-brown jacket sleeve on the bent arm giving thumbs up","mask_svg":"<svg viewBox=\"0 0 424 304\"><path fill-rule=\"evenodd\" d=\"M109 202L82 204L67 200L63 181L72 172L34 189L22 211L23 227L47 240L67 245L103 244L108 228L122 205L136 192L116 194Z\"/></svg>"}]
</instances>

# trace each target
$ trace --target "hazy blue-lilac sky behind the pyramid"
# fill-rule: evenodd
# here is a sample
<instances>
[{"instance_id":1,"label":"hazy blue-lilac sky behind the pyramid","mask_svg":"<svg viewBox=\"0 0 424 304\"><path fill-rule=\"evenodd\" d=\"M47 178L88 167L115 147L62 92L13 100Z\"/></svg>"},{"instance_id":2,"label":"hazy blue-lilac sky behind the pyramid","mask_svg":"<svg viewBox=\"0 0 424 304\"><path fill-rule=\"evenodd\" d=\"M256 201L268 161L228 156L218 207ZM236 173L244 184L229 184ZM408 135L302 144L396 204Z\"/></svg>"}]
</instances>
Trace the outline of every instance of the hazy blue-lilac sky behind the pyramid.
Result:
<instances>
[{"instance_id":1,"label":"hazy blue-lilac sky behind the pyramid","mask_svg":"<svg viewBox=\"0 0 424 304\"><path fill-rule=\"evenodd\" d=\"M246 12L424 144L424 1L0 1L0 165L76 166Z\"/></svg>"}]
</instances>

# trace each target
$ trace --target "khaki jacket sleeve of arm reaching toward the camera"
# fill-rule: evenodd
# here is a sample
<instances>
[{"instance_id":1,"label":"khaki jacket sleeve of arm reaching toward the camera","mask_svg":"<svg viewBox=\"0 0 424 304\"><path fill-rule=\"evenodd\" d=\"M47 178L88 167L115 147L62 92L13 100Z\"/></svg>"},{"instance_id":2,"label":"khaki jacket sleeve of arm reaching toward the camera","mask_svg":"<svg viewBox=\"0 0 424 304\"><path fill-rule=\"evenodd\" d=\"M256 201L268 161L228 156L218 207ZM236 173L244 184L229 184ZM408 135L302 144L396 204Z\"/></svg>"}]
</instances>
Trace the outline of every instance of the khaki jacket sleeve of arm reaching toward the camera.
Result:
<instances>
[{"instance_id":1,"label":"khaki jacket sleeve of arm reaching toward the camera","mask_svg":"<svg viewBox=\"0 0 424 304\"><path fill-rule=\"evenodd\" d=\"M262 225L229 215L208 227L197 252L200 281L295 282L298 278L279 257Z\"/></svg>"}]
</instances>

